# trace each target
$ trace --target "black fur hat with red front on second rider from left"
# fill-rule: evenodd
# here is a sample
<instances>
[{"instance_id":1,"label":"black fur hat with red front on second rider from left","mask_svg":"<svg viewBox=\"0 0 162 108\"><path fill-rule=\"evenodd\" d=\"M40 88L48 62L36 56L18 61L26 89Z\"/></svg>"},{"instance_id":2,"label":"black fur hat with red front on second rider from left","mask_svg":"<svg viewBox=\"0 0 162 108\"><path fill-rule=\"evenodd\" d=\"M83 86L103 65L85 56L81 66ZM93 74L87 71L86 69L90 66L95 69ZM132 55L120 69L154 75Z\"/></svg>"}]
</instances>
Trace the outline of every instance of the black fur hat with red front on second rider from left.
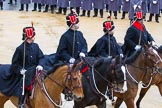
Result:
<instances>
[{"instance_id":1,"label":"black fur hat with red front on second rider from left","mask_svg":"<svg viewBox=\"0 0 162 108\"><path fill-rule=\"evenodd\" d=\"M72 9L72 13L70 13L70 14L68 14L68 16L66 16L66 22L69 27L74 24L77 24L79 22L78 15L74 11L74 9Z\"/></svg>"}]
</instances>

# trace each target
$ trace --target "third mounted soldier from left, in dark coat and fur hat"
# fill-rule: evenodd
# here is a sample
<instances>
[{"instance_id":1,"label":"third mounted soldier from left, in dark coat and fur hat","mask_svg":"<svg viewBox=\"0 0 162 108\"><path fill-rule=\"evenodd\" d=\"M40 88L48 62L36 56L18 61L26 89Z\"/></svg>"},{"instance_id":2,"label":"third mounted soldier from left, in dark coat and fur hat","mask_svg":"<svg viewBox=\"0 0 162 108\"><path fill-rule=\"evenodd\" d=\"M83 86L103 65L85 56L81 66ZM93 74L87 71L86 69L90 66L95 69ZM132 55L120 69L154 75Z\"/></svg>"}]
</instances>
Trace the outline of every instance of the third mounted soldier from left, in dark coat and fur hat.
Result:
<instances>
[{"instance_id":1,"label":"third mounted soldier from left, in dark coat and fur hat","mask_svg":"<svg viewBox=\"0 0 162 108\"><path fill-rule=\"evenodd\" d=\"M110 16L108 17L110 18ZM114 36L114 22L110 20L103 22L104 35L97 40L94 46L88 53L89 56L93 57L111 57L114 58L116 55L123 57L123 52L118 45Z\"/></svg>"}]
</instances>

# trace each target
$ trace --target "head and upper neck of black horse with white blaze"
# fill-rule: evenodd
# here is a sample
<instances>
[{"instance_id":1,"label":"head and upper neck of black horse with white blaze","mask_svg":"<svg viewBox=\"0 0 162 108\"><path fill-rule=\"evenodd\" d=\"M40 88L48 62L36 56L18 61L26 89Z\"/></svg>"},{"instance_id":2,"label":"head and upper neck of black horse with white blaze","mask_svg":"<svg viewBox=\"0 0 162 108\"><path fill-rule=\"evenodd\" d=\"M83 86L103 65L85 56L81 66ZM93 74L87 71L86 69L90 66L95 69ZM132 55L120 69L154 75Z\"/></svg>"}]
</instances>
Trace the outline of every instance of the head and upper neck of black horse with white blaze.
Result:
<instances>
[{"instance_id":1,"label":"head and upper neck of black horse with white blaze","mask_svg":"<svg viewBox=\"0 0 162 108\"><path fill-rule=\"evenodd\" d=\"M117 56L114 59L101 58L94 64L96 72L105 73L101 78L106 78L108 86L113 87L116 92L127 90L125 66L121 61L122 59Z\"/></svg>"}]
</instances>

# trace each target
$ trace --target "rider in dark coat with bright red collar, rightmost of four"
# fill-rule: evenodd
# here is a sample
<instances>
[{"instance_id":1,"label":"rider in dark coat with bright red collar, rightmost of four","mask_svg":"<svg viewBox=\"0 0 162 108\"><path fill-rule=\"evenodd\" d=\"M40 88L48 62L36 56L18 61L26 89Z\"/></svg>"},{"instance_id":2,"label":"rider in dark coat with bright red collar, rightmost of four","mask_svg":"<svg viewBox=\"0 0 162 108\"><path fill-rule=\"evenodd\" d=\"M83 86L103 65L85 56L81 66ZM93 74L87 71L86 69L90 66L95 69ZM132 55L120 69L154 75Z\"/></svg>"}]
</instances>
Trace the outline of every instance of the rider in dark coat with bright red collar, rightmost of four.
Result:
<instances>
[{"instance_id":1,"label":"rider in dark coat with bright red collar, rightmost of four","mask_svg":"<svg viewBox=\"0 0 162 108\"><path fill-rule=\"evenodd\" d=\"M135 50L141 49L143 45L148 45L148 43L153 46L156 45L153 37L143 24L143 12L137 11L134 14L134 22L126 32L124 45L122 46L123 52L130 56Z\"/></svg>"}]
</instances>

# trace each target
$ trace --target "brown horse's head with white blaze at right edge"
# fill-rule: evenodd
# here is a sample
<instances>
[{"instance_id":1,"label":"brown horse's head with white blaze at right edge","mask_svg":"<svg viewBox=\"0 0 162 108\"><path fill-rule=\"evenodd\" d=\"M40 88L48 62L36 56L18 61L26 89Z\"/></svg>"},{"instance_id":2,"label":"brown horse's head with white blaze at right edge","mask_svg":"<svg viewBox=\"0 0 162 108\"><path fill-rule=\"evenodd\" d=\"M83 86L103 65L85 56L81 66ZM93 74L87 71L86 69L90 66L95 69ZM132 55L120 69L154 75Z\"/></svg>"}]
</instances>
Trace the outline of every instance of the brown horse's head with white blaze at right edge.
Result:
<instances>
[{"instance_id":1,"label":"brown horse's head with white blaze at right edge","mask_svg":"<svg viewBox=\"0 0 162 108\"><path fill-rule=\"evenodd\" d=\"M144 46L145 63L149 67L162 68L162 59L157 50L152 46Z\"/></svg>"}]
</instances>

